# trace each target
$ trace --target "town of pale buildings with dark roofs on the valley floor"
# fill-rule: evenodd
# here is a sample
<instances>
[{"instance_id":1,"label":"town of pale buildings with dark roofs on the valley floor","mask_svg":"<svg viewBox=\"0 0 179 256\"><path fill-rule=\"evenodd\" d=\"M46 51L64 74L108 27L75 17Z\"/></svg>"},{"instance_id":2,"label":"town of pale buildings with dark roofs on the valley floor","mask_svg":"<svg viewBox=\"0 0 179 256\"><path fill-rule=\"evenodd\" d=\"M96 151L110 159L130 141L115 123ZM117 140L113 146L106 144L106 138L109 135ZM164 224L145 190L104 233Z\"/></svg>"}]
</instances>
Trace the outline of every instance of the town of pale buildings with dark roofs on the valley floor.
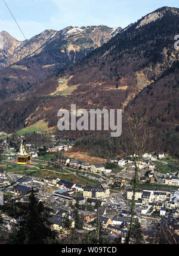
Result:
<instances>
[{"instance_id":1,"label":"town of pale buildings with dark roofs on the valley floor","mask_svg":"<svg viewBox=\"0 0 179 256\"><path fill-rule=\"evenodd\" d=\"M72 219L73 200L78 202L79 215L82 218L81 233L95 230L94 221L99 212L97 201L100 200L100 221L104 230L108 232L108 238L113 240L116 237L121 243L125 243L131 217L132 182L135 174L134 155L106 159L106 164L84 162L63 156L64 152L70 152L73 149L74 143L75 140L71 138L66 140L61 137L56 140L52 135L47 147L47 156L53 156L54 152L62 153L53 159L41 159L39 152L42 147L37 148L33 144L27 144L32 162L27 165L26 170L14 169L13 171L13 168L8 170L8 166L17 165L17 153L6 138L2 139L0 186L4 194L8 194L8 197L5 196L4 203L12 200L26 201L31 189L35 189L37 199L51 209L52 230L58 232L58 239L63 239L66 216L69 221L72 221L72 227L75 227L75 221ZM141 188L138 188L135 193L134 217L140 222L147 243L151 242L156 230L160 232L163 221L166 221L168 227L175 225L175 233L179 232L178 165L175 166L177 169L167 169L166 172L164 168L163 173L159 171L160 166L166 167L170 161L171 158L164 152L155 154L146 152L138 164ZM48 172L47 176L30 174L30 169L36 168L38 171L42 168L39 164L43 165L43 170ZM70 175L63 174L61 178L58 173ZM73 181L73 177L78 182ZM12 183L14 185L11 185ZM3 210L1 212L3 213ZM11 227L18 222L16 216L10 218L4 213L2 216L5 220L4 230L5 228L11 230Z\"/></svg>"}]
</instances>

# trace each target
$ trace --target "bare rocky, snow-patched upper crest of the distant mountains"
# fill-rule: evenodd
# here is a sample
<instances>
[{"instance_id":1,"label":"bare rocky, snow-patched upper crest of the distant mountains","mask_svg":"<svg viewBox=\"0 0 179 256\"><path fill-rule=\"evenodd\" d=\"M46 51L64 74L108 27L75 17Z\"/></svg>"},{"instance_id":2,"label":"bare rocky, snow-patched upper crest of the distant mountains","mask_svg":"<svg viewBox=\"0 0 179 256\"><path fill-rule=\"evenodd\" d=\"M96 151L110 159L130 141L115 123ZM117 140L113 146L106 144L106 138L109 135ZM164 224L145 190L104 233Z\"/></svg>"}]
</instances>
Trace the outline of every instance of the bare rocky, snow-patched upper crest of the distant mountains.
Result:
<instances>
[{"instance_id":1,"label":"bare rocky, snow-patched upper crest of the distant mountains","mask_svg":"<svg viewBox=\"0 0 179 256\"><path fill-rule=\"evenodd\" d=\"M21 42L11 37L8 32L2 31L0 35L3 37L4 49L0 50L0 65L1 67L8 67L26 57L38 55L49 47L53 49L55 47L60 49L61 47L62 52L69 52L71 50L70 46L72 49L80 50L82 43L84 44L84 48L88 48L88 45L85 46L85 43L87 43L92 49L95 49L109 41L113 35L120 31L121 28L114 29L103 25L85 26L82 28L69 26L60 31L47 29L29 40ZM84 42L82 42L82 40L84 40ZM72 47L73 45L74 47Z\"/></svg>"}]
</instances>

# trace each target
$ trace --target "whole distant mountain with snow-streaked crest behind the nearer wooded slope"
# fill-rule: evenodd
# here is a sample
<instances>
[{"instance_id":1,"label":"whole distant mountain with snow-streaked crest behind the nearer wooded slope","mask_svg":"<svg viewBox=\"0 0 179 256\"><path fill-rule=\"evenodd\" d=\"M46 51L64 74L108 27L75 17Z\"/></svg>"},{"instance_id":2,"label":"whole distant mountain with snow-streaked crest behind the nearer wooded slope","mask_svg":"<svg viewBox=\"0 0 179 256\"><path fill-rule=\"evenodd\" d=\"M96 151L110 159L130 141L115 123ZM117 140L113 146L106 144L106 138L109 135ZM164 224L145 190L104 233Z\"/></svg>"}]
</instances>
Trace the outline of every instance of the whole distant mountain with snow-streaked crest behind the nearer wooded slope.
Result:
<instances>
[{"instance_id":1,"label":"whole distant mountain with snow-streaked crest behind the nearer wooded slope","mask_svg":"<svg viewBox=\"0 0 179 256\"><path fill-rule=\"evenodd\" d=\"M69 26L60 31L48 29L22 42L8 32L0 33L0 98L24 92L55 71L74 64L110 40L121 28Z\"/></svg>"}]
</instances>

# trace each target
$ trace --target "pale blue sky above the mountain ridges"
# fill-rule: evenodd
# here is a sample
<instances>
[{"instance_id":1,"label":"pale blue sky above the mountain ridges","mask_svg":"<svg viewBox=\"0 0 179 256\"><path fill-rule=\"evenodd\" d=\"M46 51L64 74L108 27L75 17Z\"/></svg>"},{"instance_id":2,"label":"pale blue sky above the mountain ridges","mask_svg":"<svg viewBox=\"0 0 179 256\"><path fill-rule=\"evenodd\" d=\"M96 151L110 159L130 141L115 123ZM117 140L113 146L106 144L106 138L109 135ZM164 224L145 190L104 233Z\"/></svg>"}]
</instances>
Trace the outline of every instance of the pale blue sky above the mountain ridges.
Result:
<instances>
[{"instance_id":1,"label":"pale blue sky above the mountain ridges","mask_svg":"<svg viewBox=\"0 0 179 256\"><path fill-rule=\"evenodd\" d=\"M4 0L26 38L44 31L59 31L67 26L106 25L125 28L156 9L179 8L178 0ZM23 34L13 20L3 0L0 0L0 31L17 40Z\"/></svg>"}]
</instances>

